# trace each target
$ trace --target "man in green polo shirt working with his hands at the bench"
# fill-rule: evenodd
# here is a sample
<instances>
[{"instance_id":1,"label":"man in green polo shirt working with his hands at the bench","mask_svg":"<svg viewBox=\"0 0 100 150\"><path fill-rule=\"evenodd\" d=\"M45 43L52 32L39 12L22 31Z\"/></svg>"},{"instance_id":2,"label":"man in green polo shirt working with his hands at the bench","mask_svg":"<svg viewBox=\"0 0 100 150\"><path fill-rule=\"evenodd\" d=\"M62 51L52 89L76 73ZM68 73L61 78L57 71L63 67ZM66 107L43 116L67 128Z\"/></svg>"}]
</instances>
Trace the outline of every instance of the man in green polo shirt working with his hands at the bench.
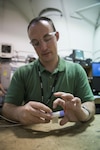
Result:
<instances>
[{"instance_id":1,"label":"man in green polo shirt working with his hands at the bench","mask_svg":"<svg viewBox=\"0 0 100 150\"><path fill-rule=\"evenodd\" d=\"M65 115L60 125L91 119L95 104L86 73L58 56L59 33L52 21L37 17L27 31L39 59L15 72L2 114L24 125L48 123L52 112L61 109Z\"/></svg>"}]
</instances>

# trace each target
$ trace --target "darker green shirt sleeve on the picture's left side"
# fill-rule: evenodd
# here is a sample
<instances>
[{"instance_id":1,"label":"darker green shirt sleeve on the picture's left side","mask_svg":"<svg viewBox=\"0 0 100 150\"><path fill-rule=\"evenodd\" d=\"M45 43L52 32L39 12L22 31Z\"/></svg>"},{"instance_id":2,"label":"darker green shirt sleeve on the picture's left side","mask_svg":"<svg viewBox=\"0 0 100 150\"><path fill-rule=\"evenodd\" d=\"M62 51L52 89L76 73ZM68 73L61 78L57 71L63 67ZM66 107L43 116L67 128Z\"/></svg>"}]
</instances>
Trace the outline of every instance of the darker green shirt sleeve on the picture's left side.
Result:
<instances>
[{"instance_id":1,"label":"darker green shirt sleeve on the picture's left side","mask_svg":"<svg viewBox=\"0 0 100 150\"><path fill-rule=\"evenodd\" d=\"M10 86L5 96L5 102L15 105L21 105L24 100L25 88L24 81L21 78L22 72L17 70L11 80Z\"/></svg>"}]
</instances>

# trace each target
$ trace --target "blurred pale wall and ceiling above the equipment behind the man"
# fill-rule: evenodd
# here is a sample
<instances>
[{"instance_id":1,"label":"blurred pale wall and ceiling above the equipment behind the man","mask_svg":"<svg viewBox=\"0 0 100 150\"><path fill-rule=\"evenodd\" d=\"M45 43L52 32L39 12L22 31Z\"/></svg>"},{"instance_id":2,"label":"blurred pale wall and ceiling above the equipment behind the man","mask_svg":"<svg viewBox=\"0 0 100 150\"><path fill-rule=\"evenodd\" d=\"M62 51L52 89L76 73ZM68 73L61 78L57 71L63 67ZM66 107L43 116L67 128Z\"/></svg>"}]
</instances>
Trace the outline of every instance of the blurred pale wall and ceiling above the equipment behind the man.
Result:
<instances>
[{"instance_id":1,"label":"blurred pale wall and ceiling above the equipment behind the man","mask_svg":"<svg viewBox=\"0 0 100 150\"><path fill-rule=\"evenodd\" d=\"M11 45L13 56L22 61L29 55L37 57L27 26L39 15L53 19L60 32L58 51L62 57L79 49L85 58L100 61L99 0L0 0L0 45Z\"/></svg>"}]
</instances>

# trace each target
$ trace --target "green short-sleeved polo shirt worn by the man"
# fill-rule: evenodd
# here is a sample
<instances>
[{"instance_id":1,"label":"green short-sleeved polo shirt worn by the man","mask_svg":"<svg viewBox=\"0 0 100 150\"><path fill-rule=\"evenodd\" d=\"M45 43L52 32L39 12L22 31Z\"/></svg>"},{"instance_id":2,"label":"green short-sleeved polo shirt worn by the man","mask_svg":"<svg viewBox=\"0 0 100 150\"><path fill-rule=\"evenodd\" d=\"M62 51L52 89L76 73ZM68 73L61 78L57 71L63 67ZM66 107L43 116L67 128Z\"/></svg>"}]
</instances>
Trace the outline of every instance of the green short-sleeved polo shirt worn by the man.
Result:
<instances>
[{"instance_id":1,"label":"green short-sleeved polo shirt worn by the man","mask_svg":"<svg viewBox=\"0 0 100 150\"><path fill-rule=\"evenodd\" d=\"M38 66L41 72L43 93L41 91ZM59 58L58 66L53 73L45 70L39 60L17 69L12 77L5 102L17 106L28 101L42 103L43 96L43 103L52 108L53 101L56 99L54 95L52 94L48 103L47 101L51 94L56 74L58 74L58 77L54 86L54 92L71 93L79 97L82 102L94 100L84 69L77 63L67 62L63 58ZM59 109L60 107L57 108L57 110Z\"/></svg>"}]
</instances>

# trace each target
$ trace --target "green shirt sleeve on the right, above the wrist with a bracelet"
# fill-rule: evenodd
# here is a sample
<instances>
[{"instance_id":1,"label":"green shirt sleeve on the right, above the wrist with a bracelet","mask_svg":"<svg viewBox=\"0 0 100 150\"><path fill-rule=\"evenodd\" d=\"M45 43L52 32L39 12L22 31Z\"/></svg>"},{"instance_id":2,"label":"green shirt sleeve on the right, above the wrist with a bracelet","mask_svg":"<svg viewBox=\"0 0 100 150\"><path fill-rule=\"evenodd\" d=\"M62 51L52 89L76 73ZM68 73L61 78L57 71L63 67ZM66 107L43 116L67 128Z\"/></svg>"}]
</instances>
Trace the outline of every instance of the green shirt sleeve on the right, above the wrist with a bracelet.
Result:
<instances>
[{"instance_id":1,"label":"green shirt sleeve on the right, above the wrist with a bracelet","mask_svg":"<svg viewBox=\"0 0 100 150\"><path fill-rule=\"evenodd\" d=\"M94 96L87 78L85 70L80 64L76 65L75 73L75 91L74 95L79 97L82 102L94 100Z\"/></svg>"}]
</instances>

